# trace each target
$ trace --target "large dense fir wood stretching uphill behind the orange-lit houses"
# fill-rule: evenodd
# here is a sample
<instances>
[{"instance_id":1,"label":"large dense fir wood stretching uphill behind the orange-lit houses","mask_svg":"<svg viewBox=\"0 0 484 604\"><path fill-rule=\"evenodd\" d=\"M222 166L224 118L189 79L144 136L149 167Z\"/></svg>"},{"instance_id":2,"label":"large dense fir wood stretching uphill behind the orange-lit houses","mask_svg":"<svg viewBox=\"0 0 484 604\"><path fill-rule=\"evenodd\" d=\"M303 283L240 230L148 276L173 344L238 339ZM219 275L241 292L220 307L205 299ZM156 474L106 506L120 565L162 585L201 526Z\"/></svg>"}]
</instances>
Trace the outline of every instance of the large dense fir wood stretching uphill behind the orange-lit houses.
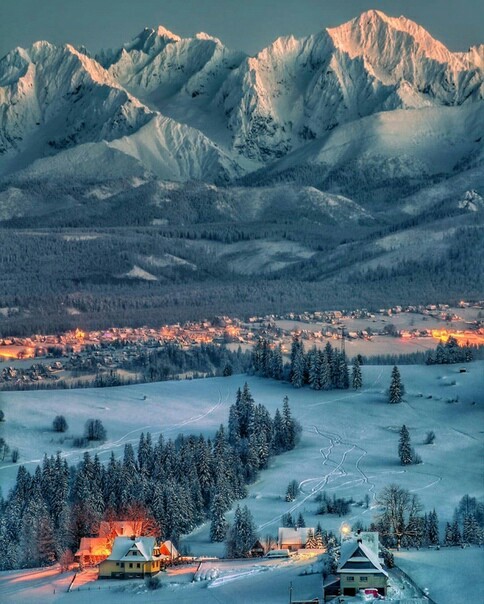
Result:
<instances>
[{"instance_id":1,"label":"large dense fir wood stretching uphill behind the orange-lit houses","mask_svg":"<svg viewBox=\"0 0 484 604\"><path fill-rule=\"evenodd\" d=\"M60 453L44 457L33 475L20 466L15 486L0 500L0 569L60 560L82 537L95 536L101 520L136 520L144 534L177 542L211 519L214 540L223 540L225 513L271 455L293 448L299 434L287 399L271 418L247 385L229 415L228 429L221 425L213 440L160 435L153 441L147 433L137 450L128 443L122 459L111 453L106 464L85 452L77 466Z\"/></svg>"}]
</instances>

